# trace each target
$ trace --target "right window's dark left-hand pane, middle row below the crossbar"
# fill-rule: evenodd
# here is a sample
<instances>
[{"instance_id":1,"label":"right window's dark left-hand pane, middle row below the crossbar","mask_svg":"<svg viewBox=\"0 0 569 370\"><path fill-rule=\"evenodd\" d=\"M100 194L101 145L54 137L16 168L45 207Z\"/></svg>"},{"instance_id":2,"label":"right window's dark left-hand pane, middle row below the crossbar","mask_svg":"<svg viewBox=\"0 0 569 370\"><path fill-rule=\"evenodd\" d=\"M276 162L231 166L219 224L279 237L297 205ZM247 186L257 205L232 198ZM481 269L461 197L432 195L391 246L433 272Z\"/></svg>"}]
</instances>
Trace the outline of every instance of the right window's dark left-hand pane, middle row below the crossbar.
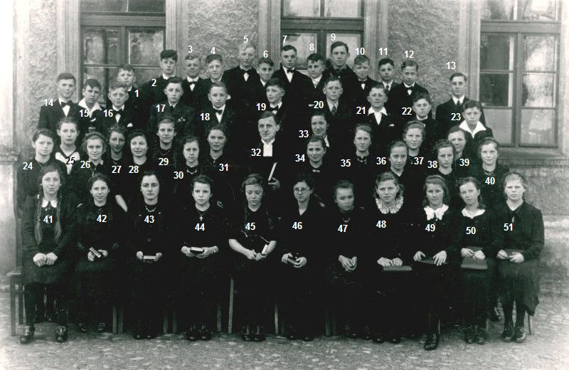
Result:
<instances>
[{"instance_id":1,"label":"right window's dark left-hand pane, middle row below the crossbar","mask_svg":"<svg viewBox=\"0 0 569 370\"><path fill-rule=\"evenodd\" d=\"M511 73L483 73L480 75L482 105L511 107L514 105L514 76Z\"/></svg>"}]
</instances>

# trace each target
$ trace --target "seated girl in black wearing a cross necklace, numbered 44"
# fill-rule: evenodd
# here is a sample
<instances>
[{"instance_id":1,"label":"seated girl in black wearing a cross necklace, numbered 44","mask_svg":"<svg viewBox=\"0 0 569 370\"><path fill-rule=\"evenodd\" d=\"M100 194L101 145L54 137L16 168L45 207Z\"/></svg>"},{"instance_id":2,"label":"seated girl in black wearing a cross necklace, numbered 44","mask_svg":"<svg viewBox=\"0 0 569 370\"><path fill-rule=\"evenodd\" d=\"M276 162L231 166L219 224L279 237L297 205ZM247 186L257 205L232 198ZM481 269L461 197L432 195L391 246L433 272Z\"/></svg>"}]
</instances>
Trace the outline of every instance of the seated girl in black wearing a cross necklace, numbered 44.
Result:
<instances>
[{"instance_id":1,"label":"seated girl in black wearing a cross necklace, numbered 44","mask_svg":"<svg viewBox=\"0 0 569 370\"><path fill-rule=\"evenodd\" d=\"M227 245L228 224L222 208L211 203L213 181L205 175L191 180L193 206L184 211L177 223L176 257L179 279L179 305L186 320L186 339L211 339L211 314L216 312L219 285L223 274L218 254Z\"/></svg>"}]
</instances>

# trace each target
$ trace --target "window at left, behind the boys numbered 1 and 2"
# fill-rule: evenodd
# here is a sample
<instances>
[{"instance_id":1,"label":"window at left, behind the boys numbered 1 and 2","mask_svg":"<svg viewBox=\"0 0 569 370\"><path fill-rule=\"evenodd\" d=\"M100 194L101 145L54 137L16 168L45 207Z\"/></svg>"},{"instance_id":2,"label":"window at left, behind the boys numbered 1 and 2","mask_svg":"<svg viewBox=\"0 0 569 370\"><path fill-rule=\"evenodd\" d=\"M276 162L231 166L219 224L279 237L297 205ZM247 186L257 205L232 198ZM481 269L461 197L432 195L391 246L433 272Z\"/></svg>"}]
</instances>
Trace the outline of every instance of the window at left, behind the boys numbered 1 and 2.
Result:
<instances>
[{"instance_id":1,"label":"window at left, behind the boys numbered 1 and 2","mask_svg":"<svg viewBox=\"0 0 569 370\"><path fill-rule=\"evenodd\" d=\"M165 0L82 0L81 82L97 79L107 100L107 86L117 66L134 67L137 85L159 75L158 59L166 38Z\"/></svg>"}]
</instances>

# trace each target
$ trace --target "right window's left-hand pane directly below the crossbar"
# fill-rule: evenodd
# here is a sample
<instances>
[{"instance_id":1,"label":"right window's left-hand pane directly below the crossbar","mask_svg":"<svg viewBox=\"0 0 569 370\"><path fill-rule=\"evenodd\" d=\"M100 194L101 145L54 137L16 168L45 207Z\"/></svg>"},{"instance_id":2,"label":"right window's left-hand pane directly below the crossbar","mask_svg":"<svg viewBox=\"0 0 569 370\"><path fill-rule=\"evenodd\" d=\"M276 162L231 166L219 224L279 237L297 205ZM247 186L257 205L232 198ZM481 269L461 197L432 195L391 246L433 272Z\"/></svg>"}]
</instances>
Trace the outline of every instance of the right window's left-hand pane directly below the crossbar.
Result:
<instances>
[{"instance_id":1,"label":"right window's left-hand pane directly below the crossbar","mask_svg":"<svg viewBox=\"0 0 569 370\"><path fill-rule=\"evenodd\" d=\"M514 69L514 36L483 34L480 38L480 69Z\"/></svg>"}]
</instances>

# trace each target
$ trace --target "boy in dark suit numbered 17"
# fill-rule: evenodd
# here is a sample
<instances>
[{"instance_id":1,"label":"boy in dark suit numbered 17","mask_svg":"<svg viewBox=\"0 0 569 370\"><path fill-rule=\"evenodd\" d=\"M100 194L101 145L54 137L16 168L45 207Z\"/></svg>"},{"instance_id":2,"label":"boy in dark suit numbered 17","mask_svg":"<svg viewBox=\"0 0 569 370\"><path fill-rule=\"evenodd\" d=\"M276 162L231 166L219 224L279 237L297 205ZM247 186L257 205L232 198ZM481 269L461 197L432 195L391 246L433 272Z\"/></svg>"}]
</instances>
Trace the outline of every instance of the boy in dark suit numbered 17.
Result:
<instances>
[{"instance_id":1,"label":"boy in dark suit numbered 17","mask_svg":"<svg viewBox=\"0 0 569 370\"><path fill-rule=\"evenodd\" d=\"M153 137L156 133L156 123L166 116L174 122L174 128L179 137L196 135L196 111L181 102L181 97L185 93L182 88L182 79L179 77L169 78L164 93L168 100L159 102L150 108L147 128L149 137Z\"/></svg>"}]
</instances>

